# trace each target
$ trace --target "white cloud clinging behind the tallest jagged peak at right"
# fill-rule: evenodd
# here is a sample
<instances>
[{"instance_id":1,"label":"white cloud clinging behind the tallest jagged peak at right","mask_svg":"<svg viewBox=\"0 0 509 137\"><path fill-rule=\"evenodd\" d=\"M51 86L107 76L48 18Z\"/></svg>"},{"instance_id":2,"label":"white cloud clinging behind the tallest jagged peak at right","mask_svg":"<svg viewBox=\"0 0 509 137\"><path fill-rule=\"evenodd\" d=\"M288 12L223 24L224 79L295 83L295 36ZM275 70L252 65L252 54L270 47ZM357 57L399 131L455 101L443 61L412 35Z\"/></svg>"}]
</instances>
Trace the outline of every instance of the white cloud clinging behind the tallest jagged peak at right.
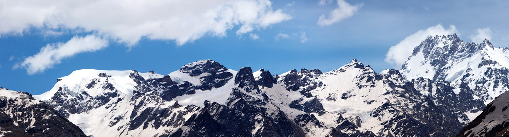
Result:
<instances>
[{"instance_id":1,"label":"white cloud clinging behind the tallest jagged peak at right","mask_svg":"<svg viewBox=\"0 0 509 137\"><path fill-rule=\"evenodd\" d=\"M400 41L400 43L390 47L385 56L385 61L391 63L394 68L399 69L408 57L412 55L413 49L426 40L428 36L449 35L451 33L458 33L454 25L450 25L448 29L445 29L441 24L438 24L426 30L419 30Z\"/></svg>"}]
</instances>

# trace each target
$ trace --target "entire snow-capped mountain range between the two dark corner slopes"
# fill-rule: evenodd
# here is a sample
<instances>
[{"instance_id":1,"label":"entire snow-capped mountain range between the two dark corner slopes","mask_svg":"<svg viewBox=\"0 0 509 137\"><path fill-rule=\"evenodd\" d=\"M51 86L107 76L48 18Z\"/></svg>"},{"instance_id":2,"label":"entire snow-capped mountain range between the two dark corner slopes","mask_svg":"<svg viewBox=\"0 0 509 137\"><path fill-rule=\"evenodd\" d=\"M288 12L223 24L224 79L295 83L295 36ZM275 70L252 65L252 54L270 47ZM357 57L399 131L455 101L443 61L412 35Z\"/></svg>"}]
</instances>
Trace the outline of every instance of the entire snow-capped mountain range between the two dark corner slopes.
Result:
<instances>
[{"instance_id":1,"label":"entire snow-capped mountain range between the two dark corner slopes","mask_svg":"<svg viewBox=\"0 0 509 137\"><path fill-rule=\"evenodd\" d=\"M454 136L509 89L508 50L453 34L428 37L401 71L79 70L34 98L93 136Z\"/></svg>"}]
</instances>

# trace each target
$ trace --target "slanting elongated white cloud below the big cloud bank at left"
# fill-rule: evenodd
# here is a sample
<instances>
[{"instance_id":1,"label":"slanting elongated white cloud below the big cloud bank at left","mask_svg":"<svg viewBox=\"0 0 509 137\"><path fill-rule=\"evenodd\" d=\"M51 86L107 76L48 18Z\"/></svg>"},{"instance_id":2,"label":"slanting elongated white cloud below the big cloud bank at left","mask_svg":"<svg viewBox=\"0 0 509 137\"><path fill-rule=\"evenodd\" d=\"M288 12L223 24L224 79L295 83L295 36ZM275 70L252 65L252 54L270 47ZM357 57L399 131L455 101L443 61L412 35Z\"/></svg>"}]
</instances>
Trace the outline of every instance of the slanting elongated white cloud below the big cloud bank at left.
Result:
<instances>
[{"instance_id":1,"label":"slanting elongated white cloud below the big cloud bank at left","mask_svg":"<svg viewBox=\"0 0 509 137\"><path fill-rule=\"evenodd\" d=\"M52 43L41 48L33 56L26 57L23 62L14 65L14 69L25 68L29 75L44 72L47 68L58 64L62 59L77 53L92 52L108 46L108 41L94 35L73 37L66 43Z\"/></svg>"}]
</instances>

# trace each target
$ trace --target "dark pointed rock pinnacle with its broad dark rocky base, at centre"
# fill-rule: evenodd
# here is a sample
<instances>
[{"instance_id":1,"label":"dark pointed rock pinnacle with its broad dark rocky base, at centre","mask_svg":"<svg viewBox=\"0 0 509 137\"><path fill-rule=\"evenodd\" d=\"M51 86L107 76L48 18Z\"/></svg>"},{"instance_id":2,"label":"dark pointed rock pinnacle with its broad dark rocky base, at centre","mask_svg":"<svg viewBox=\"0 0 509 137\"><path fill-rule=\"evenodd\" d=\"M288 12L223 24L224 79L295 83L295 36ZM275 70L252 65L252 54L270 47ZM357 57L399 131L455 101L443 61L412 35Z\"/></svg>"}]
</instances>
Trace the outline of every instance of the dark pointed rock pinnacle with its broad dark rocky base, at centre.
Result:
<instances>
[{"instance_id":1,"label":"dark pointed rock pinnacle with its broad dark rocky base, at centre","mask_svg":"<svg viewBox=\"0 0 509 137\"><path fill-rule=\"evenodd\" d=\"M237 73L232 95L227 105L205 102L205 107L184 125L189 126L181 136L305 136L304 131L288 119L284 112L268 114L263 106L271 106L267 95L260 94L250 67ZM256 124L258 123L258 124ZM258 125L258 126L257 126Z\"/></svg>"}]
</instances>

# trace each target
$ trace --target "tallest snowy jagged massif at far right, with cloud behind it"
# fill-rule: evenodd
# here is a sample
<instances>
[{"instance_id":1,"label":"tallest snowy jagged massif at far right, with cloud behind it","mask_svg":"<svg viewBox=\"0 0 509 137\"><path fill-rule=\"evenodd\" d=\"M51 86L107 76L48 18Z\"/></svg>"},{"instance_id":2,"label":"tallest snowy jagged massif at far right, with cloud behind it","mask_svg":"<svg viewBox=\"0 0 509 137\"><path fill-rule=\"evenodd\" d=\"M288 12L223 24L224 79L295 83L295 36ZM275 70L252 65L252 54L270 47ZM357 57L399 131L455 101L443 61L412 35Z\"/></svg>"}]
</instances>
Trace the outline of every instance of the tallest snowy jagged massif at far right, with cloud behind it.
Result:
<instances>
[{"instance_id":1,"label":"tallest snowy jagged massif at far right, with cloud behind it","mask_svg":"<svg viewBox=\"0 0 509 137\"><path fill-rule=\"evenodd\" d=\"M488 40L466 43L456 34L430 36L414 48L401 72L407 80L422 77L447 81L455 87L466 83L487 104L509 90L507 49L496 48Z\"/></svg>"}]
</instances>

